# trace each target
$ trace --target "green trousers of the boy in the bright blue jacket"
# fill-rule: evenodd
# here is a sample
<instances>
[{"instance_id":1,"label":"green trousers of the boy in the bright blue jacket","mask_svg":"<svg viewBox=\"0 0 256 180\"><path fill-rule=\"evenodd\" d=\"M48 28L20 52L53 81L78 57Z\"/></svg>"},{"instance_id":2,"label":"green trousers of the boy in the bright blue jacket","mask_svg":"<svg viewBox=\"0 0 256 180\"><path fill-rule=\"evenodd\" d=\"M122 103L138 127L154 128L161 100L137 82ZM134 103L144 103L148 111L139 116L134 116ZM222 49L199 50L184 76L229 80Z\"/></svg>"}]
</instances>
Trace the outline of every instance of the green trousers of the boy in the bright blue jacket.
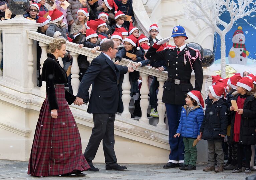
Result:
<instances>
[{"instance_id":1,"label":"green trousers of the boy in the bright blue jacket","mask_svg":"<svg viewBox=\"0 0 256 180\"><path fill-rule=\"evenodd\" d=\"M197 146L193 146L194 138L185 138L183 137L183 142L185 146L185 154L184 154L184 164L185 165L193 165L195 166L197 163Z\"/></svg>"}]
</instances>

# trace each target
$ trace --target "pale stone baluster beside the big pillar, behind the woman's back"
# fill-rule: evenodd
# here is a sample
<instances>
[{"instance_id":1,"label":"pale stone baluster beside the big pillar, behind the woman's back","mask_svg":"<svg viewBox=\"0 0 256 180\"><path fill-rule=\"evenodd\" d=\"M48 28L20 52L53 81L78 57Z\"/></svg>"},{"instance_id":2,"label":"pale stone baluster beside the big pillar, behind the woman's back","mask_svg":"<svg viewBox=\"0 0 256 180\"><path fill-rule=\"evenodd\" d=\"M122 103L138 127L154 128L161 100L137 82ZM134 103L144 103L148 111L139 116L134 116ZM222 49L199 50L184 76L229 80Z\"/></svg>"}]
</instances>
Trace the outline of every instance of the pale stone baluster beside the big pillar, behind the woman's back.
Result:
<instances>
[{"instance_id":1,"label":"pale stone baluster beside the big pillar, behind the woman's back","mask_svg":"<svg viewBox=\"0 0 256 180\"><path fill-rule=\"evenodd\" d=\"M33 71L34 71L34 57L32 54L32 45L33 45L33 39L28 39L28 87L33 88L34 83L33 83Z\"/></svg>"}]
</instances>

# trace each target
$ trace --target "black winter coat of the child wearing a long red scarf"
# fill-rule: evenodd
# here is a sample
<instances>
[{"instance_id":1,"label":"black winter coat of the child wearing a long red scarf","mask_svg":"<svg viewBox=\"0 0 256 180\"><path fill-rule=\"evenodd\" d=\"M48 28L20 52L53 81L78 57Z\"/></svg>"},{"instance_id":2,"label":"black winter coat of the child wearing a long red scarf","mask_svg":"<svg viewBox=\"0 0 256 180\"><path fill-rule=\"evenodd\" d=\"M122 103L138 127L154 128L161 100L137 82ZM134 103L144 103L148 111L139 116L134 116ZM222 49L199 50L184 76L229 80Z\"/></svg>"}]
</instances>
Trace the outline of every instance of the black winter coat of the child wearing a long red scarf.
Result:
<instances>
[{"instance_id":1,"label":"black winter coat of the child wearing a long red scarf","mask_svg":"<svg viewBox=\"0 0 256 180\"><path fill-rule=\"evenodd\" d=\"M237 100L240 94L235 91L233 93L233 100ZM240 144L256 144L256 94L247 96L244 101L243 114L240 126L239 143ZM233 142L234 136L234 123L236 111L233 111L232 122L231 122L231 132L230 132L230 143Z\"/></svg>"}]
</instances>

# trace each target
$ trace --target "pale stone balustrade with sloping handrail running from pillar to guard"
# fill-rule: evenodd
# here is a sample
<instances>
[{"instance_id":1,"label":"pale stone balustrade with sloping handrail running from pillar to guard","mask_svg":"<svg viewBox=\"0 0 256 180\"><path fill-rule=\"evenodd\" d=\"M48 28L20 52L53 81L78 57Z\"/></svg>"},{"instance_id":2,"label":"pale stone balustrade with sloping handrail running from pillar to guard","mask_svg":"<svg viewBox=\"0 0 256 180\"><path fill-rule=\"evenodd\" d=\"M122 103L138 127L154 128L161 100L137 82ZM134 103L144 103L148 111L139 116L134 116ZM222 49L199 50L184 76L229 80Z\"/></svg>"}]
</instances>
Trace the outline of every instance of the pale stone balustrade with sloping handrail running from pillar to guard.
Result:
<instances>
[{"instance_id":1,"label":"pale stone balustrade with sloping handrail running from pillar to guard","mask_svg":"<svg viewBox=\"0 0 256 180\"><path fill-rule=\"evenodd\" d=\"M35 31L27 31L27 37L28 37L28 47L29 47L29 53L28 53L28 70L29 70L29 87L32 88L34 86L32 79L33 79L33 65L36 63L33 61L33 53L32 53L32 42L31 40L39 41L39 46L42 48L42 55L40 59L40 65L42 68L43 62L47 57L46 49L48 47L48 44L53 39L52 37L46 36L44 34L37 33ZM79 54L87 56L87 60L91 62L95 57L97 57L100 52L97 51L96 53L91 53L90 48L83 47L82 49L78 47L77 44L66 42L66 50L70 51L70 54L73 57L73 63L71 67L71 86L73 89L73 94L76 95L79 87L79 67L77 64L77 57ZM120 61L120 65L127 66L131 60L122 58L122 61ZM61 63L60 63L61 64ZM157 80L160 83L159 87L159 93L158 93L158 113L159 113L159 122L157 124L157 127L161 129L166 129L166 124L164 123L164 115L165 115L165 105L162 102L162 95L163 95L163 84L165 80L167 79L167 72L159 72L156 68L153 68L151 66L144 66L139 67L137 71L140 72L140 76L142 77L142 81L146 83L142 83L142 87L140 90L141 93L141 101L140 106L142 110L142 117L140 119L140 122L149 124L149 119L147 117L147 110L149 106L149 87L148 87L148 76L156 76ZM41 73L41 72L40 72ZM131 100L130 96L130 81L129 81L129 73L124 74L124 80L122 84L122 102L123 102L123 113L121 114L124 118L131 118L131 113L129 112L129 104ZM41 87L42 91L45 91L46 86L45 82L43 82L43 85Z\"/></svg>"}]
</instances>

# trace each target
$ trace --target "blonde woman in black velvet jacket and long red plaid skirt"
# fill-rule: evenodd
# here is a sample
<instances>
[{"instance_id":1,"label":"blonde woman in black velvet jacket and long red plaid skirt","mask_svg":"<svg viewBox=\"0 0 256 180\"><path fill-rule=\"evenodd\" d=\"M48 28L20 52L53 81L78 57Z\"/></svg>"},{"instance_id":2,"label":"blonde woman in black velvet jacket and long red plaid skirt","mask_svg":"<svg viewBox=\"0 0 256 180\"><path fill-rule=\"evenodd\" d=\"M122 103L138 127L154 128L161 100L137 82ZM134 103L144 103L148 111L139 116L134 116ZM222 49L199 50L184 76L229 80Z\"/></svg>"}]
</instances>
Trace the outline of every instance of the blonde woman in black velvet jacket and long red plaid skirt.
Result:
<instances>
[{"instance_id":1,"label":"blonde woman in black velvet jacket and long red plaid skirt","mask_svg":"<svg viewBox=\"0 0 256 180\"><path fill-rule=\"evenodd\" d=\"M42 68L46 98L36 125L28 164L32 176L58 176L81 173L90 168L82 154L81 138L68 107L76 97L64 89L67 75L57 61L66 53L66 41L55 38L49 43L51 54Z\"/></svg>"}]
</instances>

